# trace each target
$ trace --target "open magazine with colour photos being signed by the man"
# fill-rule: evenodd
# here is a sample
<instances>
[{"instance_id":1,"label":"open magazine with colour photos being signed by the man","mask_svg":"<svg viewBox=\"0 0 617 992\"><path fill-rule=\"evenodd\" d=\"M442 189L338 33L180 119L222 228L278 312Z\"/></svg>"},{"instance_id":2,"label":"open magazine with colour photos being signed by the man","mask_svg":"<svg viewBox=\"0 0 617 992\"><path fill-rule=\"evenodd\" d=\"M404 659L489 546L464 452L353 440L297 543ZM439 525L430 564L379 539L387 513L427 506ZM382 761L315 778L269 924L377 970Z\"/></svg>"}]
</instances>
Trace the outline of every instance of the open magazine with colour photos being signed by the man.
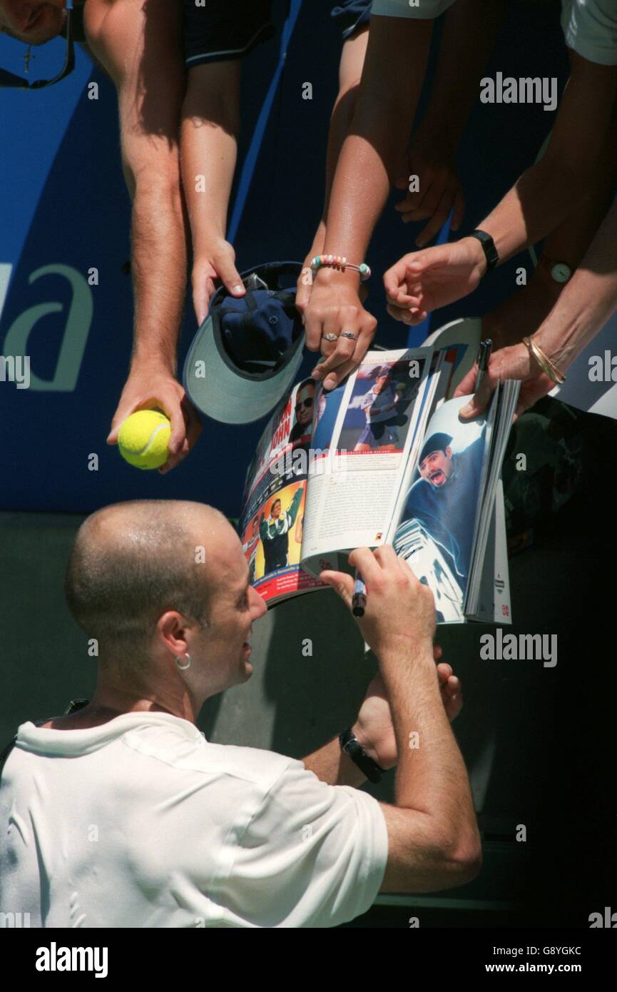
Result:
<instances>
[{"instance_id":1,"label":"open magazine with colour photos being signed by the man","mask_svg":"<svg viewBox=\"0 0 617 992\"><path fill-rule=\"evenodd\" d=\"M461 421L466 344L370 351L337 389L294 387L248 469L240 537L268 605L326 588L358 547L394 546L435 597L438 623L511 623L500 472L519 390ZM473 356L475 358L475 355Z\"/></svg>"}]
</instances>

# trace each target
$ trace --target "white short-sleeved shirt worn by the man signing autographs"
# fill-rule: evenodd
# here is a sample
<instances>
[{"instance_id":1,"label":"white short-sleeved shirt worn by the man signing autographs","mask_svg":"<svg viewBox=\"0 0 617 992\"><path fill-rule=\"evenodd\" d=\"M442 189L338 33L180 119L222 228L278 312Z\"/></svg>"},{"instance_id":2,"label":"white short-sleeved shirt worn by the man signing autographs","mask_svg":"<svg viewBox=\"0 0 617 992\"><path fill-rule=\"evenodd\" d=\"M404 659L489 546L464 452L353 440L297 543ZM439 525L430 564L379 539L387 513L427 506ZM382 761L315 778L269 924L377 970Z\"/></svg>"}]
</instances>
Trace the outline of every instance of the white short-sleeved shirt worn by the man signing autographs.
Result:
<instances>
[{"instance_id":1,"label":"white short-sleeved shirt worn by the man signing autographs","mask_svg":"<svg viewBox=\"0 0 617 992\"><path fill-rule=\"evenodd\" d=\"M335 927L370 908L388 858L368 793L169 713L22 724L0 830L0 913L32 927Z\"/></svg>"}]
</instances>

